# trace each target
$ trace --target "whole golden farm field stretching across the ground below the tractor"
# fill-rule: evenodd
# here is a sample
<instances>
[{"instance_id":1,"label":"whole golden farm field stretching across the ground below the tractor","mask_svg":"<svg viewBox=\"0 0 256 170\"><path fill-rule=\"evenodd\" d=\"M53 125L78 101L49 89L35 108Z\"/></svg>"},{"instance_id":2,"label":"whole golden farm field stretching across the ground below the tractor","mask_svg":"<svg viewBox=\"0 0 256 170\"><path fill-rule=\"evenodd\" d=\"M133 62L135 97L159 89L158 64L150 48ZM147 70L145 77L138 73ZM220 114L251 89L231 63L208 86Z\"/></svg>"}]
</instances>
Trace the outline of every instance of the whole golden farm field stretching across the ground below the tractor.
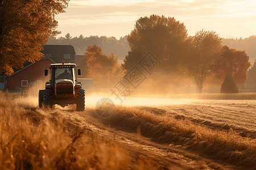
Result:
<instances>
[{"instance_id":1,"label":"whole golden farm field stretching across the ground below the tractor","mask_svg":"<svg viewBox=\"0 0 256 170\"><path fill-rule=\"evenodd\" d=\"M256 169L255 96L134 96L101 118L99 95L76 112L0 92L0 169Z\"/></svg>"}]
</instances>

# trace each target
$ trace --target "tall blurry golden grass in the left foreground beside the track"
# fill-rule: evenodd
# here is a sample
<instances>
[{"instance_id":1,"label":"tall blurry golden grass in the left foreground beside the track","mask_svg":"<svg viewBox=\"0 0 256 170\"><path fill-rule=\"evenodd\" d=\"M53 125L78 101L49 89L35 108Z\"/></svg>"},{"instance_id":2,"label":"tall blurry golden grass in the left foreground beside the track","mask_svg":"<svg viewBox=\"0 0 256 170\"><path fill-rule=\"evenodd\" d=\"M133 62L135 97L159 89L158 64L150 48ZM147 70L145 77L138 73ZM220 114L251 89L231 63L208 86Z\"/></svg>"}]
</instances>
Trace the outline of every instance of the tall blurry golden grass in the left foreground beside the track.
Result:
<instances>
[{"instance_id":1,"label":"tall blurry golden grass in the left foreground beside the track","mask_svg":"<svg viewBox=\"0 0 256 170\"><path fill-rule=\"evenodd\" d=\"M52 110L43 112L49 115ZM79 126L71 130L67 120L40 114L28 98L0 92L0 118L0 169L127 169L130 165L131 156L117 142Z\"/></svg>"}]
</instances>

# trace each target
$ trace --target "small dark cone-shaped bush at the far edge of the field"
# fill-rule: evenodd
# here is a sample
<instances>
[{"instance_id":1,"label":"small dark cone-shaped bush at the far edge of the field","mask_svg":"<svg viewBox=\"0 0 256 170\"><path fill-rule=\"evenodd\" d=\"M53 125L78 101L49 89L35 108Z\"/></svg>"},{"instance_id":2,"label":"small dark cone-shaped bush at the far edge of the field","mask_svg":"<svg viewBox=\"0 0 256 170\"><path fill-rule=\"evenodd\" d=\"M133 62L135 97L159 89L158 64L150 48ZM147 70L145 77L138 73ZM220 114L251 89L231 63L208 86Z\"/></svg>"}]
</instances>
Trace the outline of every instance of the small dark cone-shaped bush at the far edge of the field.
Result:
<instances>
[{"instance_id":1,"label":"small dark cone-shaped bush at the far edge of the field","mask_svg":"<svg viewBox=\"0 0 256 170\"><path fill-rule=\"evenodd\" d=\"M238 93L237 84L232 76L226 75L224 82L221 84L221 94L236 94Z\"/></svg>"}]
</instances>

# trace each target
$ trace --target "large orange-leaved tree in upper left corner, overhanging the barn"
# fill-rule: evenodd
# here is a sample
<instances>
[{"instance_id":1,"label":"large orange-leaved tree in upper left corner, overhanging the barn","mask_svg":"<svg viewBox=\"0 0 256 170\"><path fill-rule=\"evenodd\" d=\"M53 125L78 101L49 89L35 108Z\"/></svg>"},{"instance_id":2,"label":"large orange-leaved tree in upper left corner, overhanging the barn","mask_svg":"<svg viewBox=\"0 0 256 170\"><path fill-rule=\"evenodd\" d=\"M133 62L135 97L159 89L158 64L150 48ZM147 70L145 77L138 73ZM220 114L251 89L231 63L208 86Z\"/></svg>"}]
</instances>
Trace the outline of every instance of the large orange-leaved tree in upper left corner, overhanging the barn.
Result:
<instances>
[{"instance_id":1,"label":"large orange-leaved tree in upper left corner, overhanging the barn","mask_svg":"<svg viewBox=\"0 0 256 170\"><path fill-rule=\"evenodd\" d=\"M0 73L13 73L24 61L34 62L49 35L57 35L55 15L69 0L0 1Z\"/></svg>"}]
</instances>

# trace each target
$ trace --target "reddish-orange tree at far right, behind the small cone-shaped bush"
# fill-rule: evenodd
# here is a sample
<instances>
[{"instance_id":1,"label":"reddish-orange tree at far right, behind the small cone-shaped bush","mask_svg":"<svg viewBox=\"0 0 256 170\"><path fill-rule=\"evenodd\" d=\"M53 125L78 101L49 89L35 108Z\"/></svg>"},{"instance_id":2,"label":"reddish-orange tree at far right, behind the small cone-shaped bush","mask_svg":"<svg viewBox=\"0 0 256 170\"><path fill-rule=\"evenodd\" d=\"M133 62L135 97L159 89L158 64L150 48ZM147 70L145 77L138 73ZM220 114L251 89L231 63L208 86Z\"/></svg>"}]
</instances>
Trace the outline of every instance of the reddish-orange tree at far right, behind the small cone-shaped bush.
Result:
<instances>
[{"instance_id":1,"label":"reddish-orange tree at far right, behind the small cone-shaped bush","mask_svg":"<svg viewBox=\"0 0 256 170\"><path fill-rule=\"evenodd\" d=\"M243 84L247 80L246 71L251 66L250 57L245 50L230 49L228 46L222 47L222 54L214 62L214 73L218 80L223 81L226 75L232 77L234 82Z\"/></svg>"}]
</instances>

